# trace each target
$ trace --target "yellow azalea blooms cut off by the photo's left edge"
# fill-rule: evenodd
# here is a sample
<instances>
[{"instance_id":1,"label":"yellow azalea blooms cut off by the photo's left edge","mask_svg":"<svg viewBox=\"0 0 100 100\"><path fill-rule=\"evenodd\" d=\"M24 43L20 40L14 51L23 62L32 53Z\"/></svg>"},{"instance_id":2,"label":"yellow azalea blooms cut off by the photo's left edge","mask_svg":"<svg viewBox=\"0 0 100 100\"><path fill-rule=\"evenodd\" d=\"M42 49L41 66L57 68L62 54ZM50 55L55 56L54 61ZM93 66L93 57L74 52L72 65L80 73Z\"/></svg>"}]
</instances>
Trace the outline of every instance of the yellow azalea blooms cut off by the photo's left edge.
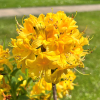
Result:
<instances>
[{"instance_id":1,"label":"yellow azalea blooms cut off by the photo's left edge","mask_svg":"<svg viewBox=\"0 0 100 100\"><path fill-rule=\"evenodd\" d=\"M4 75L2 72L4 71L4 64L8 65L12 70L12 65L9 62L9 49L3 50L3 46L0 45L0 100L3 99L2 94L6 91L9 92L10 86L5 82Z\"/></svg>"}]
</instances>

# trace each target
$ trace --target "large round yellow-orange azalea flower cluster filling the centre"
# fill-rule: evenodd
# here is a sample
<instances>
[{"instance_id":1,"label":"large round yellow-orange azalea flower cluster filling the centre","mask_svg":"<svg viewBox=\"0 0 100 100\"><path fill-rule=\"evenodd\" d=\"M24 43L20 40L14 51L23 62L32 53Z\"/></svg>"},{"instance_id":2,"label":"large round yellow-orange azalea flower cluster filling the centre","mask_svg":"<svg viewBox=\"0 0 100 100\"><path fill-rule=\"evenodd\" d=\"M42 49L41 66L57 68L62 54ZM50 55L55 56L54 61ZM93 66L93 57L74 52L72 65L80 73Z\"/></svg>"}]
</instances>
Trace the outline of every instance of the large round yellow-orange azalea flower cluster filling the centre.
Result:
<instances>
[{"instance_id":1,"label":"large round yellow-orange azalea flower cluster filling the centre","mask_svg":"<svg viewBox=\"0 0 100 100\"><path fill-rule=\"evenodd\" d=\"M67 69L84 67L88 50L83 46L89 45L89 39L79 32L73 17L58 11L38 18L30 15L23 26L17 24L17 39L11 39L12 53L17 67L23 72L28 68L33 79L44 77L56 84Z\"/></svg>"}]
</instances>

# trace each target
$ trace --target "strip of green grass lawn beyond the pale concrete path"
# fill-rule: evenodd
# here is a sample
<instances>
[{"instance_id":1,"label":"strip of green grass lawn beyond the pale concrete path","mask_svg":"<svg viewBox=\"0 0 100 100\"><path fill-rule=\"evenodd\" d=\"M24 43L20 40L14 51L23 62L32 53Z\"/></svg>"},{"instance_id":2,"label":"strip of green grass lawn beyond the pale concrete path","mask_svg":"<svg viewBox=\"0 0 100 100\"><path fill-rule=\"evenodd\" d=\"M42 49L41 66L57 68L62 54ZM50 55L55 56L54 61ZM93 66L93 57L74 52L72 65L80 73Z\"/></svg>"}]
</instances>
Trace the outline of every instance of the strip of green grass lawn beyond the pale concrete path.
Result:
<instances>
[{"instance_id":1,"label":"strip of green grass lawn beyond the pale concrete path","mask_svg":"<svg viewBox=\"0 0 100 100\"><path fill-rule=\"evenodd\" d=\"M0 8L100 4L100 0L0 0Z\"/></svg>"}]
</instances>

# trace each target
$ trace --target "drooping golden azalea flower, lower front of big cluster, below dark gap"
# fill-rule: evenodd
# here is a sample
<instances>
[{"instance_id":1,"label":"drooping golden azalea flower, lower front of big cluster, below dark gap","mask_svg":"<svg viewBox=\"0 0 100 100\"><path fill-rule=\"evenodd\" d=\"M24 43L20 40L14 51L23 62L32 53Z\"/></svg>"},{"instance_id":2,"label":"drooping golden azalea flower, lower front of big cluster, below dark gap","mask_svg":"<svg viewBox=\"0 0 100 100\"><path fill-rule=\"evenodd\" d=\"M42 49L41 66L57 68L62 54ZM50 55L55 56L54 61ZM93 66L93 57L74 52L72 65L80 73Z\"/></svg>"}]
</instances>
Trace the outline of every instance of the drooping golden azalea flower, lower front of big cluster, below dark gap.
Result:
<instances>
[{"instance_id":1,"label":"drooping golden azalea flower, lower front of big cluster, below dark gap","mask_svg":"<svg viewBox=\"0 0 100 100\"><path fill-rule=\"evenodd\" d=\"M56 60L57 58L58 56L51 58L45 53L40 53L35 60L27 59L26 65L29 68L29 74L33 72L35 76L39 77L40 75L45 74L45 71L57 68L57 66L53 64L53 61L51 61L51 59Z\"/></svg>"}]
</instances>

